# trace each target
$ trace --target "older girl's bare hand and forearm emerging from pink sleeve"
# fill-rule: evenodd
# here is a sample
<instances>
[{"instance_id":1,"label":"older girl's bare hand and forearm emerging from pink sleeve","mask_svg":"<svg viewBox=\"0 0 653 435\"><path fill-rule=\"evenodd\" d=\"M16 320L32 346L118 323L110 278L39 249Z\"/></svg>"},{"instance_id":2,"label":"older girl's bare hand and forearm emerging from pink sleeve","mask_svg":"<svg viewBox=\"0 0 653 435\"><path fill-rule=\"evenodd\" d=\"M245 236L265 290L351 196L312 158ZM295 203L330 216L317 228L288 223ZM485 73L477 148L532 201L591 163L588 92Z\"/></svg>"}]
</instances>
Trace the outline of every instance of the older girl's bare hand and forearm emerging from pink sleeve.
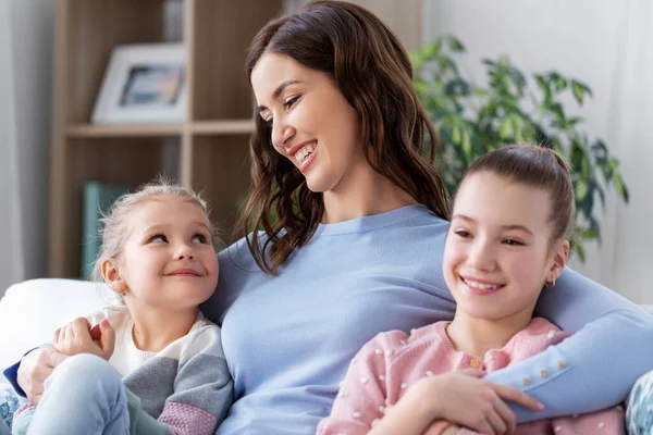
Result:
<instances>
[{"instance_id":1,"label":"older girl's bare hand and forearm emerging from pink sleeve","mask_svg":"<svg viewBox=\"0 0 653 435\"><path fill-rule=\"evenodd\" d=\"M515 432L517 418L505 401L533 411L543 409L533 397L507 385L480 380L482 375L480 371L465 371L424 377L402 400L423 403L421 409L431 413L431 422L445 420L489 435Z\"/></svg>"}]
</instances>

